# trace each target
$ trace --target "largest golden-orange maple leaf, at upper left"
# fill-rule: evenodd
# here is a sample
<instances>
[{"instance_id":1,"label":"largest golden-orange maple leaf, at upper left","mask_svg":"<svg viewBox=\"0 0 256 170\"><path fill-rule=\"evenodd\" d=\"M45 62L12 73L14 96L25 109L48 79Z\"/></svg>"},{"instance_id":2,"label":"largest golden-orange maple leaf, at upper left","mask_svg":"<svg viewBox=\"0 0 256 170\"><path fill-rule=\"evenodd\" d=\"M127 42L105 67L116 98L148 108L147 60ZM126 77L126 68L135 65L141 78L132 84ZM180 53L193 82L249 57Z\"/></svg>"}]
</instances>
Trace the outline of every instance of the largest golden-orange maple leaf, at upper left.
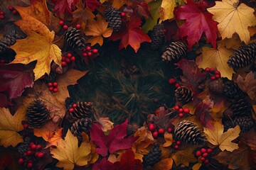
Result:
<instances>
[{"instance_id":1,"label":"largest golden-orange maple leaf, at upper left","mask_svg":"<svg viewBox=\"0 0 256 170\"><path fill-rule=\"evenodd\" d=\"M57 45L53 44L55 33L47 28L41 21L30 16L21 7L16 7L22 20L16 21L16 25L28 35L26 39L17 40L11 48L16 52L16 57L11 63L28 64L36 62L33 69L35 80L42 77L45 73L50 73L50 63L54 61L61 65L61 52Z\"/></svg>"}]
</instances>

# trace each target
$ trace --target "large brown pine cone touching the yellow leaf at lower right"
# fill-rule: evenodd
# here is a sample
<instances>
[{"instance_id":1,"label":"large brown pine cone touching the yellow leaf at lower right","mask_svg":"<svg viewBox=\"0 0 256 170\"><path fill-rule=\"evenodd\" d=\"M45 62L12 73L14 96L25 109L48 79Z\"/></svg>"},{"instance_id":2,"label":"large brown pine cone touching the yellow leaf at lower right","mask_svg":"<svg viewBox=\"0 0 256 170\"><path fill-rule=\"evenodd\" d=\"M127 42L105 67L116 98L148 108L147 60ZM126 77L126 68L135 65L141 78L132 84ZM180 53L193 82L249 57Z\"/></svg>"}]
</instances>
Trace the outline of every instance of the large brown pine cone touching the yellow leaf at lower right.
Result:
<instances>
[{"instance_id":1,"label":"large brown pine cone touching the yellow leaf at lower right","mask_svg":"<svg viewBox=\"0 0 256 170\"><path fill-rule=\"evenodd\" d=\"M174 135L177 140L188 144L203 145L206 142L206 137L203 136L201 130L188 120L183 120L175 126Z\"/></svg>"}]
</instances>

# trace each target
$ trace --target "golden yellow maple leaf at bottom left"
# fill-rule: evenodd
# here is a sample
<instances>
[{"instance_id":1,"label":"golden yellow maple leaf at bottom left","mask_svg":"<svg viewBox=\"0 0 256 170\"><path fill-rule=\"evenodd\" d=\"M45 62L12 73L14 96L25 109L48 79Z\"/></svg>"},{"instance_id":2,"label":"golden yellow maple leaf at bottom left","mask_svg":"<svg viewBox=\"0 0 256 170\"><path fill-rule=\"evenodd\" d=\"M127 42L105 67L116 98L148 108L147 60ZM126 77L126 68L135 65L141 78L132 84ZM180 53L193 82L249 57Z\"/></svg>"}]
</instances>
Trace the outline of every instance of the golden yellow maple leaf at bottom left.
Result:
<instances>
[{"instance_id":1,"label":"golden yellow maple leaf at bottom left","mask_svg":"<svg viewBox=\"0 0 256 170\"><path fill-rule=\"evenodd\" d=\"M60 140L56 148L50 148L50 154L53 154L55 159L58 159L56 166L72 170L75 165L85 166L92 159L92 148L90 142L82 142L78 147L78 138L68 130L65 140Z\"/></svg>"}]
</instances>

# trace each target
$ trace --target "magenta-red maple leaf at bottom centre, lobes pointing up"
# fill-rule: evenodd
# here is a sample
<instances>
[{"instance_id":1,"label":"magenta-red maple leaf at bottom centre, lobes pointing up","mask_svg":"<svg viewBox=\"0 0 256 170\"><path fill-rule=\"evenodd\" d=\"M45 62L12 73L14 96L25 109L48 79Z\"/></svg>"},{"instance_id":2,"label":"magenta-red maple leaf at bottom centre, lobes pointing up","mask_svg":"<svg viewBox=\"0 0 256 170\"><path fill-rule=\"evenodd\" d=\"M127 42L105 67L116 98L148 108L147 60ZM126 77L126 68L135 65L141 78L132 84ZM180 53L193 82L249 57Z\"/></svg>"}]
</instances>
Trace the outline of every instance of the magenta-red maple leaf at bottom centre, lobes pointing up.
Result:
<instances>
[{"instance_id":1,"label":"magenta-red maple leaf at bottom centre, lobes pointing up","mask_svg":"<svg viewBox=\"0 0 256 170\"><path fill-rule=\"evenodd\" d=\"M128 119L120 125L114 126L109 135L105 135L99 124L93 123L90 130L90 137L95 145L97 145L97 154L106 157L108 152L110 154L119 149L128 149L131 147L132 142L137 140L137 137L127 137Z\"/></svg>"}]
</instances>

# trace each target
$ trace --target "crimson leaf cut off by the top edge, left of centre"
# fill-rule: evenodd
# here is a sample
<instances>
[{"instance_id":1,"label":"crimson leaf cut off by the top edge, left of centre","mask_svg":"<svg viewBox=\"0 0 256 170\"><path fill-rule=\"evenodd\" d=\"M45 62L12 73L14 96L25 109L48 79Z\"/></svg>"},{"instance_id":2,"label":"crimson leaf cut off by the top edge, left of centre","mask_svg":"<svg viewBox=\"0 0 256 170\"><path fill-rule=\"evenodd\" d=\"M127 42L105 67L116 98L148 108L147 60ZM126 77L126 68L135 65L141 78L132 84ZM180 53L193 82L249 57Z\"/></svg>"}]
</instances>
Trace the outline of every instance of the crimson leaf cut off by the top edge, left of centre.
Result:
<instances>
[{"instance_id":1,"label":"crimson leaf cut off by the top edge, left of centre","mask_svg":"<svg viewBox=\"0 0 256 170\"><path fill-rule=\"evenodd\" d=\"M63 13L72 15L72 9L75 9L75 4L78 0L53 0L55 3L54 11L60 16Z\"/></svg>"}]
</instances>

